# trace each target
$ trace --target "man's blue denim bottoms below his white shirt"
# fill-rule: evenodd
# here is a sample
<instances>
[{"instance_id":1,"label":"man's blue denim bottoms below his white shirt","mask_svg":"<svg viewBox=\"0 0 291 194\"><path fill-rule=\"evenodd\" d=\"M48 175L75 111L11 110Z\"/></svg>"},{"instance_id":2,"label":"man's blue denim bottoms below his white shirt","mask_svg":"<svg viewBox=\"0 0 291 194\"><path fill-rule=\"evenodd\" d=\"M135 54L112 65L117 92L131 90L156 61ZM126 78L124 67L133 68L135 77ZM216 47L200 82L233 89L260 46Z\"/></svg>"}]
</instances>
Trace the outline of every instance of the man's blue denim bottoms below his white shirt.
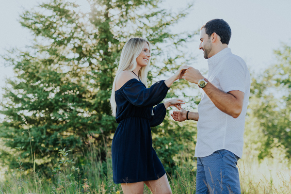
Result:
<instances>
[{"instance_id":1,"label":"man's blue denim bottoms below his white shirt","mask_svg":"<svg viewBox=\"0 0 291 194\"><path fill-rule=\"evenodd\" d=\"M239 159L226 149L197 158L196 194L241 194Z\"/></svg>"}]
</instances>

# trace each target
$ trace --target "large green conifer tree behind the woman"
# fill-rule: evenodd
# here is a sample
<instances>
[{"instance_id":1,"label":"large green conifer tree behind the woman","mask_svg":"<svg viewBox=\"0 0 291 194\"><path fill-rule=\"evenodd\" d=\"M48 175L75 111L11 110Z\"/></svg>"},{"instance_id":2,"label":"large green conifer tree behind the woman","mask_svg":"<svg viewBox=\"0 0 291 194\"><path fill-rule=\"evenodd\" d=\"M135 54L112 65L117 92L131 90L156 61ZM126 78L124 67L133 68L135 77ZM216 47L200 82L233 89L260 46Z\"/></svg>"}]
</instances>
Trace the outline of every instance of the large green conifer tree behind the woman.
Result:
<instances>
[{"instance_id":1,"label":"large green conifer tree behind the woman","mask_svg":"<svg viewBox=\"0 0 291 194\"><path fill-rule=\"evenodd\" d=\"M78 165L84 164L82 158L92 145L100 150L98 159L106 161L106 149L117 127L109 105L111 87L118 56L129 37L144 37L154 45L150 84L193 60L182 44L191 41L194 32L169 32L191 6L169 13L159 8L160 0L88 3L90 13L82 13L78 5L67 0L50 0L25 11L20 23L32 32L34 41L24 50L14 49L2 56L6 65L13 66L16 78L7 81L0 104L0 113L6 115L0 137L7 147L24 147L18 151L24 169L31 169L30 155L34 153L35 170L48 177L50 162L65 148L80 159L76 160ZM183 84L183 88L187 86ZM173 86L168 97L183 97L181 89ZM23 130L22 115L30 133ZM193 128L178 125L176 130L175 124L165 121L163 127L154 130L154 141L162 147L159 155L167 151L170 157L162 157L166 169L175 166L173 158L189 146L189 137L193 136ZM163 130L169 132L163 134ZM187 141L182 141L186 137ZM176 146L164 149L170 142ZM7 151L2 151L0 158L13 169L19 165Z\"/></svg>"}]
</instances>

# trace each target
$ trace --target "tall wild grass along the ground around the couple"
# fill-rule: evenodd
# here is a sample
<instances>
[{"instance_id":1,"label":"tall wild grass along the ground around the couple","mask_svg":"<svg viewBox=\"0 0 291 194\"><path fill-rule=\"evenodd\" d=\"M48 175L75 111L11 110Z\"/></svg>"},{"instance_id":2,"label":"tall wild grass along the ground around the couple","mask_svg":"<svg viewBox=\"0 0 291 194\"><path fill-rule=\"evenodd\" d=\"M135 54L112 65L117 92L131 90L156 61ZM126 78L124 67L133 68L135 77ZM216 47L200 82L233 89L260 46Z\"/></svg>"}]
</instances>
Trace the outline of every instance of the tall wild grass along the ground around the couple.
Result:
<instances>
[{"instance_id":1,"label":"tall wild grass along the ground around the couple","mask_svg":"<svg viewBox=\"0 0 291 194\"><path fill-rule=\"evenodd\" d=\"M60 150L59 161L51 178L45 179L31 170L21 168L5 169L0 183L1 194L122 194L119 184L112 180L111 158L107 162L97 160L97 153L92 150L86 157L86 165L78 168L68 160L70 151ZM66 161L66 162L65 162ZM61 163L60 163L61 162ZM291 194L291 170L288 161L276 157L262 161L246 156L239 160L242 194ZM105 170L106 169L106 170ZM174 194L195 193L196 166L179 166L175 176L168 176ZM52 181L55 179L56 181ZM146 188L145 194L150 194Z\"/></svg>"}]
</instances>

